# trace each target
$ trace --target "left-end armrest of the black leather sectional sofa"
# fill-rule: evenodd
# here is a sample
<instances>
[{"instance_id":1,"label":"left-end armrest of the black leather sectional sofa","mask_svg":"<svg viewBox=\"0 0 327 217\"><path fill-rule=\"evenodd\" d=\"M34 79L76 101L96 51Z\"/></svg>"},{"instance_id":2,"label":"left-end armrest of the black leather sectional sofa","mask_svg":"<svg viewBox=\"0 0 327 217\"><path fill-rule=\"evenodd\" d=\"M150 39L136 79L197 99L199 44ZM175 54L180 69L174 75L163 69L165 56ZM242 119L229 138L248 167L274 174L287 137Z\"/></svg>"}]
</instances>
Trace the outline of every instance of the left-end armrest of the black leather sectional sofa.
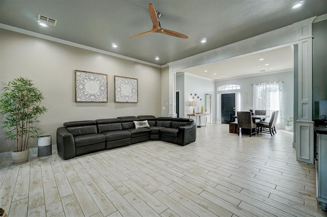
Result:
<instances>
[{"instance_id":1,"label":"left-end armrest of the black leather sectional sofa","mask_svg":"<svg viewBox=\"0 0 327 217\"><path fill-rule=\"evenodd\" d=\"M57 150L58 156L62 159L70 159L75 157L75 141L73 134L68 132L66 127L57 129Z\"/></svg>"}]
</instances>

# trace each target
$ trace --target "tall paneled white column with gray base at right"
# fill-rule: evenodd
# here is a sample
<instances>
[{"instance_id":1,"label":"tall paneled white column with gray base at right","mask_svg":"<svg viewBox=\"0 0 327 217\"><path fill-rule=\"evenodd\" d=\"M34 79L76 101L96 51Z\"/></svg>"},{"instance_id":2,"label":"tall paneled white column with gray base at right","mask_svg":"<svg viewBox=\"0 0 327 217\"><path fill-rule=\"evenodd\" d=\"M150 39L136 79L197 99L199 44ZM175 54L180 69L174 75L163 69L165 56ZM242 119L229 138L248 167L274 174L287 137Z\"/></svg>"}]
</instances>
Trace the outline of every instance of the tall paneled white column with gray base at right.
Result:
<instances>
[{"instance_id":1,"label":"tall paneled white column with gray base at right","mask_svg":"<svg viewBox=\"0 0 327 217\"><path fill-rule=\"evenodd\" d=\"M298 29L296 159L311 164L314 160L314 123L312 121L312 22L314 19L315 17L294 23Z\"/></svg>"}]
</instances>

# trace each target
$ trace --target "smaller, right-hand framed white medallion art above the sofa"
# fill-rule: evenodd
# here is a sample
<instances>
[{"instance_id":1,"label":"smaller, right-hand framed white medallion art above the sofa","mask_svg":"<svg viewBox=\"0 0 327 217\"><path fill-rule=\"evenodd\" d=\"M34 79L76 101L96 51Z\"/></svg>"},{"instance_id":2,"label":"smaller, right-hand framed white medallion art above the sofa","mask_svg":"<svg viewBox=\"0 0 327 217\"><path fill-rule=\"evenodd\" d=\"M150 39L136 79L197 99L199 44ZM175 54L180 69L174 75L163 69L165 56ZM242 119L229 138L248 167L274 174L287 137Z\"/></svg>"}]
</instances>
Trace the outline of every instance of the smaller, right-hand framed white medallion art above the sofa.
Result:
<instances>
[{"instance_id":1,"label":"smaller, right-hand framed white medallion art above the sofa","mask_svg":"<svg viewBox=\"0 0 327 217\"><path fill-rule=\"evenodd\" d=\"M114 101L133 102L138 101L137 78L114 76Z\"/></svg>"}]
</instances>

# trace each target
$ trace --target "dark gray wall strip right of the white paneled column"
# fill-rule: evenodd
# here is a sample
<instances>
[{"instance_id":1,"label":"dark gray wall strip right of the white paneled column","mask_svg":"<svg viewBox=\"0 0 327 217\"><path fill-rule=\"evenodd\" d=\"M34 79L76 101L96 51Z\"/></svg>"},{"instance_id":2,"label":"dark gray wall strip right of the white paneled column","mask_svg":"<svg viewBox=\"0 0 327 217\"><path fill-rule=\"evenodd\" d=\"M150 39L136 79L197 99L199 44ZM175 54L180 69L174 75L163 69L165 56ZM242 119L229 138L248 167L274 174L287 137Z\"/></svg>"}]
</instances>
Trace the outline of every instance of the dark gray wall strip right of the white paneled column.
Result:
<instances>
[{"instance_id":1,"label":"dark gray wall strip right of the white paneled column","mask_svg":"<svg viewBox=\"0 0 327 217\"><path fill-rule=\"evenodd\" d=\"M312 117L319 119L319 100L327 100L327 20L313 23Z\"/></svg>"}]
</instances>

